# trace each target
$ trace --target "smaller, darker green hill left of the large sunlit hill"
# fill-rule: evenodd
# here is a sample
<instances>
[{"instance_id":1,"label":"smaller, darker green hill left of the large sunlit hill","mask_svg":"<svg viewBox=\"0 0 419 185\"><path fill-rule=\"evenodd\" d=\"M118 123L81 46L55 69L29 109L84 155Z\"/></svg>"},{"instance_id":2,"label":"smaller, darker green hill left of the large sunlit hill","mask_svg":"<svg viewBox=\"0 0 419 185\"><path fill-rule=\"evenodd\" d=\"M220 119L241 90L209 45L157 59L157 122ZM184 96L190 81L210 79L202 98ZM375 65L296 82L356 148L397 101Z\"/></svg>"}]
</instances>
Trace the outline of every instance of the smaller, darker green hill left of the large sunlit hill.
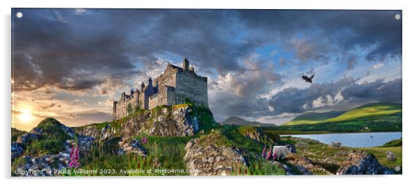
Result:
<instances>
[{"instance_id":1,"label":"smaller, darker green hill left of the large sunlit hill","mask_svg":"<svg viewBox=\"0 0 419 185\"><path fill-rule=\"evenodd\" d=\"M345 113L345 111L329 111L329 112L324 112L324 113L303 113L299 116L297 116L296 118L294 118L294 120L285 123L286 125L294 125L294 124L313 124L313 123L317 123L317 122L322 122L324 120L330 119L330 118L335 118L338 117L339 115L342 115L343 113ZM284 124L284 125L285 125Z\"/></svg>"}]
</instances>

